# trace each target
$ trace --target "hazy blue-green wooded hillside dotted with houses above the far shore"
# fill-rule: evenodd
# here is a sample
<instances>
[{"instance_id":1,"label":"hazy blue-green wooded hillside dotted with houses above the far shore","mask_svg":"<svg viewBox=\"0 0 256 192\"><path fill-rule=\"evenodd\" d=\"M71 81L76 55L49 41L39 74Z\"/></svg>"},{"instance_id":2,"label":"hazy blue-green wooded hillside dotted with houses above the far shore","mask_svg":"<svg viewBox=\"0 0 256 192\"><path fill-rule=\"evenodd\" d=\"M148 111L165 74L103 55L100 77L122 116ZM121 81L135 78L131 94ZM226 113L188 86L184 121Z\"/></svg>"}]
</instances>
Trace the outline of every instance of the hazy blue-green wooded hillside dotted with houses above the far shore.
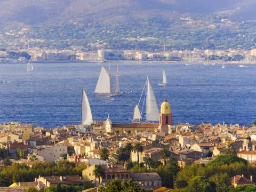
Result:
<instances>
[{"instance_id":1,"label":"hazy blue-green wooded hillside dotted with houses above the far shore","mask_svg":"<svg viewBox=\"0 0 256 192\"><path fill-rule=\"evenodd\" d=\"M254 46L254 0L0 0L0 9L0 42L5 46L14 43L14 36L20 46L20 38L25 38L25 42L36 39L35 46L57 48L152 49L149 44L163 43L170 49ZM222 19L230 22L221 23ZM226 36L222 39L221 34ZM235 37L241 35L251 43L236 43ZM134 39L138 37L150 40ZM230 41L222 42L227 38Z\"/></svg>"}]
</instances>

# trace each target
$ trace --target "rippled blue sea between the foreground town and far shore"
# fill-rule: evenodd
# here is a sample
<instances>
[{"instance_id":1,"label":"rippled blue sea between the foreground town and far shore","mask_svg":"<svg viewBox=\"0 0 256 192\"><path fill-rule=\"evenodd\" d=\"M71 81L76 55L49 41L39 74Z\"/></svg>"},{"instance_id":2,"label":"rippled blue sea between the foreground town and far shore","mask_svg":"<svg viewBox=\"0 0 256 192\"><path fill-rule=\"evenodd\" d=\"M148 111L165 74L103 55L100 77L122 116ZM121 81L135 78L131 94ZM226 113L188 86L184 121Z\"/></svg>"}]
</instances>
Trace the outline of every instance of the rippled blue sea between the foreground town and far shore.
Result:
<instances>
[{"instance_id":1,"label":"rippled blue sea between the foreground town and far shore","mask_svg":"<svg viewBox=\"0 0 256 192\"><path fill-rule=\"evenodd\" d=\"M105 120L109 114L114 123L130 122L147 75L158 105L165 97L171 103L174 123L225 121L250 125L256 119L256 66L230 65L222 69L220 65L121 63L121 91L132 93L111 100L93 93L102 65L107 64L36 63L35 71L27 73L26 64L1 64L0 122L44 127L79 123L83 87L95 120ZM115 75L115 63L112 69ZM166 87L157 85L163 69L169 83Z\"/></svg>"}]
</instances>

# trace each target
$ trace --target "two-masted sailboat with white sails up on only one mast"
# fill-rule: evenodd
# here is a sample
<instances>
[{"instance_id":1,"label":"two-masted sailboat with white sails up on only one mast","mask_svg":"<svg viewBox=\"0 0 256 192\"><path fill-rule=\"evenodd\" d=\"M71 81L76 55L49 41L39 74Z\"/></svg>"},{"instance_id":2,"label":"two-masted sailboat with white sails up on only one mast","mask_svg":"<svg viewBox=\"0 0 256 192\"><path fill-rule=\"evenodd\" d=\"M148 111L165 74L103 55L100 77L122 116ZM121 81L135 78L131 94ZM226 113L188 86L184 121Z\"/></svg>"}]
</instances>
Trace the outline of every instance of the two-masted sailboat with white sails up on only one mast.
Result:
<instances>
[{"instance_id":1,"label":"two-masted sailboat with white sails up on only one mast","mask_svg":"<svg viewBox=\"0 0 256 192\"><path fill-rule=\"evenodd\" d=\"M100 76L95 87L94 93L102 95L102 96L114 96L120 93L119 88L119 72L118 72L118 65L117 65L117 73L116 73L116 89L114 92L111 92L111 71L110 71L110 64L109 70L107 71L105 67L102 66L100 71Z\"/></svg>"}]
</instances>

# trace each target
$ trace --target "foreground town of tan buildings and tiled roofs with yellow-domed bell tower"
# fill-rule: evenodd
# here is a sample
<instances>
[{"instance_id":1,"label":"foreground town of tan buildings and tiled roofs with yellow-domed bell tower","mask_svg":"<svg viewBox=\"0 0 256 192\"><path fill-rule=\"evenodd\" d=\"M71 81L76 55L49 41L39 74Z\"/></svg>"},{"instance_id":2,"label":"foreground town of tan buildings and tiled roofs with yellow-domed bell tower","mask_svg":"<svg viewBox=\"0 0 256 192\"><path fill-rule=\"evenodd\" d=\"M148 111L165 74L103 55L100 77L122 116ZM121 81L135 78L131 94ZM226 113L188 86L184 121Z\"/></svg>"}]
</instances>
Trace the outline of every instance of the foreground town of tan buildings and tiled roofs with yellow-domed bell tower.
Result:
<instances>
[{"instance_id":1,"label":"foreground town of tan buildings and tiled roofs with yellow-domed bell tower","mask_svg":"<svg viewBox=\"0 0 256 192\"><path fill-rule=\"evenodd\" d=\"M30 187L39 191L54 185L97 191L115 179L132 179L145 191L171 191L171 180L161 178L163 175L154 171L154 167L167 166L170 162L177 162L176 168L180 170L192 164L206 166L223 154L236 155L255 165L256 125L225 122L173 125L172 118L171 105L165 99L157 123L116 124L108 116L105 121L94 121L82 128L66 125L44 129L19 122L1 124L1 169L11 164L36 169L38 164L65 162L83 165L84 169L76 175L41 173L26 182L24 178L16 178L9 187L0 187L0 191L24 191ZM228 178L228 182L233 187L255 185L254 179L253 175L237 174Z\"/></svg>"}]
</instances>

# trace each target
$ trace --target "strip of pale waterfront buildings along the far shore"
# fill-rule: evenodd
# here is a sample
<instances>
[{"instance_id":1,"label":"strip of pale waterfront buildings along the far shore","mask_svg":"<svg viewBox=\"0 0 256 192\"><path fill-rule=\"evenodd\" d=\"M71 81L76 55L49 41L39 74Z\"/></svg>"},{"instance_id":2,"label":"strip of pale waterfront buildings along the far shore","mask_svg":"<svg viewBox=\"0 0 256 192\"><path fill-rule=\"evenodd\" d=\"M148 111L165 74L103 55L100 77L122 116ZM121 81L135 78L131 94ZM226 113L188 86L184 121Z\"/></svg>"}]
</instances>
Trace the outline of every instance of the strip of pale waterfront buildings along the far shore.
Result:
<instances>
[{"instance_id":1,"label":"strip of pale waterfront buildings along the far shore","mask_svg":"<svg viewBox=\"0 0 256 192\"><path fill-rule=\"evenodd\" d=\"M147 52L139 50L80 51L28 48L21 50L0 49L1 63L31 62L105 62L112 61L167 61L202 63L256 63L256 49L245 50L197 50Z\"/></svg>"}]
</instances>

